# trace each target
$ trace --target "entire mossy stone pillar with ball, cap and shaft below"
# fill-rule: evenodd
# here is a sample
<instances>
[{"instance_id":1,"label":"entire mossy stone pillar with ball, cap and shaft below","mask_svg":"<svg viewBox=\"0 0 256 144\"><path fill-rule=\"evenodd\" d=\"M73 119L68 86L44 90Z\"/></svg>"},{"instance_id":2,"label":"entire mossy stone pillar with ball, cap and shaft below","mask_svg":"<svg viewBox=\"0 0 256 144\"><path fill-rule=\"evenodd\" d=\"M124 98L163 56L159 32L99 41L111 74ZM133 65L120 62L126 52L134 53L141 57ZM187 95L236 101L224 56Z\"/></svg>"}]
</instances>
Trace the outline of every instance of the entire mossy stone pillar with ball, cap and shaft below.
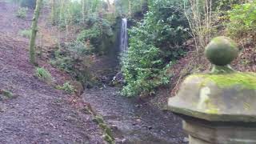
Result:
<instances>
[{"instance_id":1,"label":"entire mossy stone pillar with ball, cap and shaft below","mask_svg":"<svg viewBox=\"0 0 256 144\"><path fill-rule=\"evenodd\" d=\"M256 74L230 67L238 56L230 38L214 38L205 54L212 72L187 77L170 110L183 118L190 144L255 144Z\"/></svg>"}]
</instances>

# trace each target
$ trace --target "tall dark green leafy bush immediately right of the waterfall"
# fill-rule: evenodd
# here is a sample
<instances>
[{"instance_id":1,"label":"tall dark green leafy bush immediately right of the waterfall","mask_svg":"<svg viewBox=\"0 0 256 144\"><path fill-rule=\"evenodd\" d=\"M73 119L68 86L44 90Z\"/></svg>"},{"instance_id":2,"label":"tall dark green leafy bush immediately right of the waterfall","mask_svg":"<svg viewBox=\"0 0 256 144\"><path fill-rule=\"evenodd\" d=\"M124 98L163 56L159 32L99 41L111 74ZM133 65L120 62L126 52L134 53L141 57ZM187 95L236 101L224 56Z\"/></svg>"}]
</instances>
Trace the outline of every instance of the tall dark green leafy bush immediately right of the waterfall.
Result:
<instances>
[{"instance_id":1,"label":"tall dark green leafy bush immediately right of the waterfall","mask_svg":"<svg viewBox=\"0 0 256 144\"><path fill-rule=\"evenodd\" d=\"M122 94L131 97L154 93L154 89L169 82L170 64L186 50L182 43L188 38L186 18L177 1L152 1L142 22L130 30L130 47L122 56L122 73L126 86Z\"/></svg>"}]
</instances>

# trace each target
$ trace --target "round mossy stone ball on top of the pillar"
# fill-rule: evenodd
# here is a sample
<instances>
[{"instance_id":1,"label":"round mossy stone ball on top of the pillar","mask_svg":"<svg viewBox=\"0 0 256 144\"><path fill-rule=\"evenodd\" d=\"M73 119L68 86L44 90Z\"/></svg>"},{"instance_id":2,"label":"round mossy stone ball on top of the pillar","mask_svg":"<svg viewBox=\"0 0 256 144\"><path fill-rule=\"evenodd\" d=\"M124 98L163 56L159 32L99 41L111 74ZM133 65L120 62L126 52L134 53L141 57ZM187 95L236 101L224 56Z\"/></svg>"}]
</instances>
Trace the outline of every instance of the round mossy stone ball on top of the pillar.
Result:
<instances>
[{"instance_id":1,"label":"round mossy stone ball on top of the pillar","mask_svg":"<svg viewBox=\"0 0 256 144\"><path fill-rule=\"evenodd\" d=\"M231 38L221 36L206 46L205 54L214 65L226 66L238 57L238 46Z\"/></svg>"}]
</instances>

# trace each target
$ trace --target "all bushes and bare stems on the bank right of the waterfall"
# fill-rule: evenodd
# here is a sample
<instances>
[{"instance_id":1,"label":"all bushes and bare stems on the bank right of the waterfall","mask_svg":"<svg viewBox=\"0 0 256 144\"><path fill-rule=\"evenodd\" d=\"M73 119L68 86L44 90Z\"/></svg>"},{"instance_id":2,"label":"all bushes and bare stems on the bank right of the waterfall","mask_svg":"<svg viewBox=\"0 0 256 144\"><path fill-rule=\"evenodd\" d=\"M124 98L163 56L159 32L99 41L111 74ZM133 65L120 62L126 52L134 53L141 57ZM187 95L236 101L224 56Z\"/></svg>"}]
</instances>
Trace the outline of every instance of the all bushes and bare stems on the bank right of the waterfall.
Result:
<instances>
[{"instance_id":1,"label":"all bushes and bare stems on the bank right of the waterfall","mask_svg":"<svg viewBox=\"0 0 256 144\"><path fill-rule=\"evenodd\" d=\"M130 29L130 47L122 57L126 79L122 94L154 94L158 86L170 82L171 66L186 55L183 44L191 38L198 66L204 46L216 35L246 38L254 46L255 2L149 1L150 10Z\"/></svg>"}]
</instances>

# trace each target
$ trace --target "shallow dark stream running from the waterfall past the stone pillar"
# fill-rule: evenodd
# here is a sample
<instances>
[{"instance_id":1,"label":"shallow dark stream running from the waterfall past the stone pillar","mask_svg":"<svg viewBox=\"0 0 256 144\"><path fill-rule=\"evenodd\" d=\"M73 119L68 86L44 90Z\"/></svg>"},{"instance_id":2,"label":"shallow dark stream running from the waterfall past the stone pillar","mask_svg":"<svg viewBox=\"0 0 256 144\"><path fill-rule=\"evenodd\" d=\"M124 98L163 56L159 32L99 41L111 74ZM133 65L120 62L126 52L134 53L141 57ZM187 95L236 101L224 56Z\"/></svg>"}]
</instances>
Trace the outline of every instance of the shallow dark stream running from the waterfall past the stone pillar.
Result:
<instances>
[{"instance_id":1,"label":"shallow dark stream running from the waterfall past the stone pillar","mask_svg":"<svg viewBox=\"0 0 256 144\"><path fill-rule=\"evenodd\" d=\"M82 97L114 130L118 143L186 143L181 119L146 102L124 98L117 88L87 90Z\"/></svg>"}]
</instances>

